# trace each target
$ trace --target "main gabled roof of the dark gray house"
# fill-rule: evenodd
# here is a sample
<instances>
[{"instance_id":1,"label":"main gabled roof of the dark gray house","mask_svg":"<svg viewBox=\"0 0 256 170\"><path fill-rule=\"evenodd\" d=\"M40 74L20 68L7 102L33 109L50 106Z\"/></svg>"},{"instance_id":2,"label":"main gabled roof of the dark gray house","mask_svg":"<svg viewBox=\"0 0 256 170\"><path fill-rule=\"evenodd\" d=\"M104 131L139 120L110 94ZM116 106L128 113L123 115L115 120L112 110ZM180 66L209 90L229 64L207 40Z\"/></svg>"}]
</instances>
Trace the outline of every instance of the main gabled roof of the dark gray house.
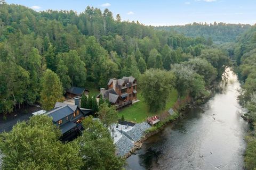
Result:
<instances>
[{"instance_id":1,"label":"main gabled roof of the dark gray house","mask_svg":"<svg viewBox=\"0 0 256 170\"><path fill-rule=\"evenodd\" d=\"M55 104L54 109L51 111L45 113L48 116L52 117L53 122L57 122L61 120L62 118L73 114L76 111L77 106L76 105L68 105L57 102Z\"/></svg>"}]
</instances>

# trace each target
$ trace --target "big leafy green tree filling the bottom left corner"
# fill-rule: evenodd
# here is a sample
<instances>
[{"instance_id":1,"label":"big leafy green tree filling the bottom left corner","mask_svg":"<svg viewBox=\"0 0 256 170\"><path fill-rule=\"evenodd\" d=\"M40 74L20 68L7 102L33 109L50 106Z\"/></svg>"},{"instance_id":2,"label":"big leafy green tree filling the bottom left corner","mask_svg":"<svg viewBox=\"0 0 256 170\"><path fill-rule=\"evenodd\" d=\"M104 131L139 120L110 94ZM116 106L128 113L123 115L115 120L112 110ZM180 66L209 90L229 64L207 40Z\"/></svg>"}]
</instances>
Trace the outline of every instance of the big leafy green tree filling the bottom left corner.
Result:
<instances>
[{"instance_id":1,"label":"big leafy green tree filling the bottom left corner","mask_svg":"<svg viewBox=\"0 0 256 170\"><path fill-rule=\"evenodd\" d=\"M60 130L50 117L33 116L28 122L1 133L2 169L80 169L76 142L62 143Z\"/></svg>"}]
</instances>

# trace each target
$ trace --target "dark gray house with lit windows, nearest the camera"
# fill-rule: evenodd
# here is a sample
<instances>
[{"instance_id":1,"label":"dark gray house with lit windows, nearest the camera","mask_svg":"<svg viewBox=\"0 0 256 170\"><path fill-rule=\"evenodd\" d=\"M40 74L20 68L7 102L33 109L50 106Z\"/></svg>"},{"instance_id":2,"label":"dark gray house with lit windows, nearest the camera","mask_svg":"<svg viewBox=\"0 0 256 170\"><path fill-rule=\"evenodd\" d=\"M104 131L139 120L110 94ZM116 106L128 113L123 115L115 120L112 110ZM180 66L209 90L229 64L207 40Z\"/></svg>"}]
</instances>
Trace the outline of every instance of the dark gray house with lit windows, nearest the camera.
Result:
<instances>
[{"instance_id":1,"label":"dark gray house with lit windows, nearest the camera","mask_svg":"<svg viewBox=\"0 0 256 170\"><path fill-rule=\"evenodd\" d=\"M62 135L82 130L82 120L91 114L90 109L82 109L77 105L57 102L54 109L45 113L52 117L54 124L60 127Z\"/></svg>"}]
</instances>

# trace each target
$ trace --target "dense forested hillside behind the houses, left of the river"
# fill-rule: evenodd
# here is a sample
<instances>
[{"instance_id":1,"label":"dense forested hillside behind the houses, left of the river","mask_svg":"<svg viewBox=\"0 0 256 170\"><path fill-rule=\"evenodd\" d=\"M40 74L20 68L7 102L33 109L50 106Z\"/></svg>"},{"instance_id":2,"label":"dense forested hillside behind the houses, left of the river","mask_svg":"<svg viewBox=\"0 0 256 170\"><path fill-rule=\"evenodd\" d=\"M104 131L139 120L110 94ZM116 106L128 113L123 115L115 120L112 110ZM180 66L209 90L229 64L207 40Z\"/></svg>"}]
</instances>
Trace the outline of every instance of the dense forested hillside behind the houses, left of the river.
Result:
<instances>
[{"instance_id":1,"label":"dense forested hillside behind the houses, left of the river","mask_svg":"<svg viewBox=\"0 0 256 170\"><path fill-rule=\"evenodd\" d=\"M211 63L221 77L224 65L218 62L227 61L226 52L213 45L211 39L189 38L155 30L139 21L122 21L119 14L114 17L108 9L102 12L88 6L80 14L35 12L3 3L0 19L0 113L4 114L23 105L45 103L42 80L47 69L61 82L53 91L65 92L71 86L87 84L97 89L106 87L114 77L139 78L146 69L169 71L171 65L185 61L174 67L187 67L196 63L193 58L197 56L205 58L202 66ZM214 55L217 62L209 55ZM61 100L61 96L56 99Z\"/></svg>"}]
</instances>

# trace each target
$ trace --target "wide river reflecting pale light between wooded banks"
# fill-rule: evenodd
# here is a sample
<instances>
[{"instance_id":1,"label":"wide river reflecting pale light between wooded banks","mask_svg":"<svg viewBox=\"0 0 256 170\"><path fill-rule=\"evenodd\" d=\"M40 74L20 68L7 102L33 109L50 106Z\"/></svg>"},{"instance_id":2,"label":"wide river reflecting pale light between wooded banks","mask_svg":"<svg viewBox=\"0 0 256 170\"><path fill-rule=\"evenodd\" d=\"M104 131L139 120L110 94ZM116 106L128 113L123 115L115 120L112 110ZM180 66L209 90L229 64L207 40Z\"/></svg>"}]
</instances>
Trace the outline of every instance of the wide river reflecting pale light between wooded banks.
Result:
<instances>
[{"instance_id":1,"label":"wide river reflecting pale light between wooded banks","mask_svg":"<svg viewBox=\"0 0 256 170\"><path fill-rule=\"evenodd\" d=\"M249 125L241 118L237 76L229 72L206 104L148 138L126 169L243 169Z\"/></svg>"}]
</instances>

